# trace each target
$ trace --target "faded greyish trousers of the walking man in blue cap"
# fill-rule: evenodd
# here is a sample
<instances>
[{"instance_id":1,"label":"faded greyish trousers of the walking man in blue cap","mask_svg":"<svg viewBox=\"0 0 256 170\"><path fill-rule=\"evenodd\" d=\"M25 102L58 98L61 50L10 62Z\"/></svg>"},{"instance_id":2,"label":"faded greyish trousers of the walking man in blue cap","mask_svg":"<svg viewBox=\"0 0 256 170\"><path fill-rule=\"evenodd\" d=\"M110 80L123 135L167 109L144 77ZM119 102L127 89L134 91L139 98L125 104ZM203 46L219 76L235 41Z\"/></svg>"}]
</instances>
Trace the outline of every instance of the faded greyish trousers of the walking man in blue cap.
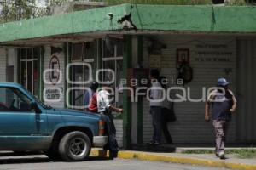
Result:
<instances>
[{"instance_id":1,"label":"faded greyish trousers of the walking man in blue cap","mask_svg":"<svg viewBox=\"0 0 256 170\"><path fill-rule=\"evenodd\" d=\"M216 152L224 151L229 122L224 120L213 120L215 129Z\"/></svg>"}]
</instances>

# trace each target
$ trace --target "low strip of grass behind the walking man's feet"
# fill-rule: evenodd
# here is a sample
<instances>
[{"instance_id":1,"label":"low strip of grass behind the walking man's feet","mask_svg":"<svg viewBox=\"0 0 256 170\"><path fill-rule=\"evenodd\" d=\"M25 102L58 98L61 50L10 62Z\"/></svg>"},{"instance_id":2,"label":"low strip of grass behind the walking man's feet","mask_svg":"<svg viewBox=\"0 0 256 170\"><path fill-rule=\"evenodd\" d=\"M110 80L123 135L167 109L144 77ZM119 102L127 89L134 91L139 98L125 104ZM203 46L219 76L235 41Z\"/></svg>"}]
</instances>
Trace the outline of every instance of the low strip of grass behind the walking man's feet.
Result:
<instances>
[{"instance_id":1,"label":"low strip of grass behind the walking man's feet","mask_svg":"<svg viewBox=\"0 0 256 170\"><path fill-rule=\"evenodd\" d=\"M225 153L243 159L256 158L256 149L225 150ZM214 154L214 150L185 150L183 154Z\"/></svg>"}]
</instances>

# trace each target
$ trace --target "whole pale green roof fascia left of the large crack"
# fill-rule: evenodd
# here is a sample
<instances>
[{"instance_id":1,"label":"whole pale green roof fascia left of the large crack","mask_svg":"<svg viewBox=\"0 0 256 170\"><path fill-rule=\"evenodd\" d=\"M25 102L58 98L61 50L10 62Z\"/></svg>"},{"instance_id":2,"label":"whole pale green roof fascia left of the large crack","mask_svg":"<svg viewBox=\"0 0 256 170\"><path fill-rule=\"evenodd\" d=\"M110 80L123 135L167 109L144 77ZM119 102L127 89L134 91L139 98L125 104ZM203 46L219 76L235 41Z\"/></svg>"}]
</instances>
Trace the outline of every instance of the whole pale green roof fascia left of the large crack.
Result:
<instances>
[{"instance_id":1,"label":"whole pale green roof fascia left of the large crack","mask_svg":"<svg viewBox=\"0 0 256 170\"><path fill-rule=\"evenodd\" d=\"M117 20L125 14L125 10L124 4L5 23L0 25L0 42L79 32L118 30L121 26ZM112 21L108 13L113 13Z\"/></svg>"}]
</instances>

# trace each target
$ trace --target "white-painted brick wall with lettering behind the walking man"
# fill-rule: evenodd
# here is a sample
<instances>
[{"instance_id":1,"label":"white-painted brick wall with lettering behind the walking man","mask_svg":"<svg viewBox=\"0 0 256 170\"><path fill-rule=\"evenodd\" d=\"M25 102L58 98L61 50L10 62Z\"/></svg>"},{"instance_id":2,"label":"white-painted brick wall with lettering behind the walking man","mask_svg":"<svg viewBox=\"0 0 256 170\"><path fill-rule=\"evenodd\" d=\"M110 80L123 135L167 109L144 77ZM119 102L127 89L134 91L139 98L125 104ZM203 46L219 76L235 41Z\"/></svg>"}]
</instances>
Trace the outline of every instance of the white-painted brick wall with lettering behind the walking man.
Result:
<instances>
[{"instance_id":1,"label":"white-painted brick wall with lettering behind the walking man","mask_svg":"<svg viewBox=\"0 0 256 170\"><path fill-rule=\"evenodd\" d=\"M218 36L158 36L158 40L167 45L166 49L162 49L162 66L161 75L166 76L169 80L176 80L176 49L190 49L190 66L194 71L192 82L185 85L191 88L192 98L198 99L201 96L202 87L211 87L216 85L218 77L227 77L230 81L230 88L236 94L236 38L235 37L218 37ZM145 43L146 44L146 43ZM230 62L209 62L197 61L198 51L197 45L204 44L228 44L227 48L213 51L231 52ZM211 48L205 48L204 51L212 51ZM144 45L143 64L148 68L148 52ZM212 58L214 55L205 55L202 58ZM229 75L226 75L224 69L231 69ZM169 124L169 130L172 134L174 143L212 143L214 141L212 123L204 122L204 102L191 103L183 102L175 104L175 113L177 122ZM234 142L236 139L236 116L230 124L228 133L228 141ZM143 100L143 142L148 142L152 138L153 128L152 120L149 115L149 106L146 99Z\"/></svg>"}]
</instances>

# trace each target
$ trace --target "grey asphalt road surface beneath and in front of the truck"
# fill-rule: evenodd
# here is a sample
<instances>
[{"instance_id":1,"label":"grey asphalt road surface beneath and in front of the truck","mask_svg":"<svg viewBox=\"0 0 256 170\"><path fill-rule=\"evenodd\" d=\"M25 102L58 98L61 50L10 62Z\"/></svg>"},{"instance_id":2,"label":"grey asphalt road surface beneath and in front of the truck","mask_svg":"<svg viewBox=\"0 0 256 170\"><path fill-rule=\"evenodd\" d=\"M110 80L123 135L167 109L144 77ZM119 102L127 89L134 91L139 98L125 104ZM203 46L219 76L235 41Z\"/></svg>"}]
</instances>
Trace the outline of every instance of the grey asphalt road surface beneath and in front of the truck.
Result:
<instances>
[{"instance_id":1,"label":"grey asphalt road surface beneath and in front of the truck","mask_svg":"<svg viewBox=\"0 0 256 170\"><path fill-rule=\"evenodd\" d=\"M50 161L44 155L14 156L0 153L0 170L217 170L224 168L200 167L156 161L138 161L90 157L83 162Z\"/></svg>"}]
</instances>

